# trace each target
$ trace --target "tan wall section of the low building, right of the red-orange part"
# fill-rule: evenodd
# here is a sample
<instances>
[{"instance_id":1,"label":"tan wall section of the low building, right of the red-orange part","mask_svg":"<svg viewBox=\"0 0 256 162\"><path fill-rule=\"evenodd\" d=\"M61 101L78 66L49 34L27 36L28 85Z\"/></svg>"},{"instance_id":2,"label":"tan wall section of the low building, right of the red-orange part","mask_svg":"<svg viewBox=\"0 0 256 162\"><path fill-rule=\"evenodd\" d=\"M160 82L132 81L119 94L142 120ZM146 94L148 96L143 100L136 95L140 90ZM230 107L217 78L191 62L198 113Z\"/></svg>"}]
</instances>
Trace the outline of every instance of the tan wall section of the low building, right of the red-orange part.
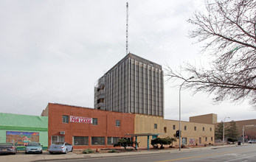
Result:
<instances>
[{"instance_id":1,"label":"tan wall section of the low building, right of the red-orange part","mask_svg":"<svg viewBox=\"0 0 256 162\"><path fill-rule=\"evenodd\" d=\"M154 124L157 124L157 129L154 129ZM175 125L175 130L173 130L173 125ZM184 126L187 126L187 130L184 130ZM167 128L165 133L164 127ZM194 130L196 127L196 130ZM204 127L204 130L203 130ZM211 128L211 129L210 129ZM134 133L159 133L159 137L171 137L179 130L179 121L167 120L160 116L148 116L142 114L135 115L135 130ZM214 124L201 124L193 123L188 121L181 121L181 136L182 138L187 138L187 144L190 144L190 139L193 139L194 144L213 144L214 143ZM201 143L199 142L201 138ZM206 141L207 138L207 141ZM151 142L152 137L150 137ZM139 147L147 147L148 137L138 137ZM173 146L178 146L179 139L173 143ZM150 147L151 144L150 144Z\"/></svg>"}]
</instances>

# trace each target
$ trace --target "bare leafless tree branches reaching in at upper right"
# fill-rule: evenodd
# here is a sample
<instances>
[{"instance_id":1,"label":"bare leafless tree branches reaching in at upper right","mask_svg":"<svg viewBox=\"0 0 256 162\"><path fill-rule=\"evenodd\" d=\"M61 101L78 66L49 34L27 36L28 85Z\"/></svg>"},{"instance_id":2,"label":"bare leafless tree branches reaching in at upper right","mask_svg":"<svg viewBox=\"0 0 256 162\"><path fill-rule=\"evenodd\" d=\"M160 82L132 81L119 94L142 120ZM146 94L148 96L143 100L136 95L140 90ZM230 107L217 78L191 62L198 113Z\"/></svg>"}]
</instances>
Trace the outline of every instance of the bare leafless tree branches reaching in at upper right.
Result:
<instances>
[{"instance_id":1,"label":"bare leafless tree branches reaching in at upper right","mask_svg":"<svg viewBox=\"0 0 256 162\"><path fill-rule=\"evenodd\" d=\"M256 1L210 0L207 12L196 12L188 20L196 29L190 38L203 42L202 52L213 57L210 68L189 63L173 71L168 80L187 80L184 88L215 94L215 102L249 99L256 104ZM188 76L188 77L187 77Z\"/></svg>"}]
</instances>

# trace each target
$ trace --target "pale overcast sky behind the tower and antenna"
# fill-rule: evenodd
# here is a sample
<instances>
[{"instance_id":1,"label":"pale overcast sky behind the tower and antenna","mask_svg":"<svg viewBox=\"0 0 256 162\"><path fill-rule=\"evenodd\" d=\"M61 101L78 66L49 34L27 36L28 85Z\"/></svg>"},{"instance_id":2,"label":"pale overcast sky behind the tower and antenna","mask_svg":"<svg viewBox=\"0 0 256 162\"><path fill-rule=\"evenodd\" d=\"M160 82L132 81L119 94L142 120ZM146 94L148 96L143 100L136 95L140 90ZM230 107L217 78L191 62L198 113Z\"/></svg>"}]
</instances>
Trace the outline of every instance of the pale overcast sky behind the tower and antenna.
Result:
<instances>
[{"instance_id":1,"label":"pale overcast sky behind the tower and antenna","mask_svg":"<svg viewBox=\"0 0 256 162\"><path fill-rule=\"evenodd\" d=\"M201 0L129 2L129 52L178 68L206 63L188 38L187 19ZM0 112L40 116L48 102L94 107L94 85L125 57L126 1L0 1ZM165 78L166 80L166 78ZM179 82L165 82L165 119L179 119ZM181 91L181 119L207 113L218 121L255 119L256 110L212 103Z\"/></svg>"}]
</instances>

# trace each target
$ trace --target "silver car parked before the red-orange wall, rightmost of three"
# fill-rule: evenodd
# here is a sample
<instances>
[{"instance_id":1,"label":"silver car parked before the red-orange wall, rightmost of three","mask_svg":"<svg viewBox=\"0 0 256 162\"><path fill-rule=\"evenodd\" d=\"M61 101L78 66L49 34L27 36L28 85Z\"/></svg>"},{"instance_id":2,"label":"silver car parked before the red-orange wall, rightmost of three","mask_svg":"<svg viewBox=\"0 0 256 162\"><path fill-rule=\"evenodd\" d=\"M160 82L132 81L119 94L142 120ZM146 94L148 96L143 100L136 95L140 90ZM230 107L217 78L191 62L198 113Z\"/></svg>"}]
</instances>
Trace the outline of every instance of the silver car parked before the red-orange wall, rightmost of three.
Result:
<instances>
[{"instance_id":1,"label":"silver car parked before the red-orange wall, rightmost of three","mask_svg":"<svg viewBox=\"0 0 256 162\"><path fill-rule=\"evenodd\" d=\"M49 147L49 153L68 153L72 152L73 147L67 142L56 142Z\"/></svg>"}]
</instances>

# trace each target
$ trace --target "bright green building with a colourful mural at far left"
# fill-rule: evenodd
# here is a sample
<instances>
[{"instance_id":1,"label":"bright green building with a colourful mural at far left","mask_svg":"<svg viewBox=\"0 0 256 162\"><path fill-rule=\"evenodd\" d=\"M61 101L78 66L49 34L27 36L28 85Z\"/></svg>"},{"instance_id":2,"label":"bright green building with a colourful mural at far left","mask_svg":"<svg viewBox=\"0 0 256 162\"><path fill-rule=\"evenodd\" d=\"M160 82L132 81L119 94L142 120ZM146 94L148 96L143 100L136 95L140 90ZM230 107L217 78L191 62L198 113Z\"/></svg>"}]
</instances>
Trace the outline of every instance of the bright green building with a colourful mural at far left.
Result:
<instances>
[{"instance_id":1,"label":"bright green building with a colourful mural at far left","mask_svg":"<svg viewBox=\"0 0 256 162\"><path fill-rule=\"evenodd\" d=\"M14 143L24 149L28 142L40 142L48 147L48 117L0 113L0 143Z\"/></svg>"}]
</instances>

